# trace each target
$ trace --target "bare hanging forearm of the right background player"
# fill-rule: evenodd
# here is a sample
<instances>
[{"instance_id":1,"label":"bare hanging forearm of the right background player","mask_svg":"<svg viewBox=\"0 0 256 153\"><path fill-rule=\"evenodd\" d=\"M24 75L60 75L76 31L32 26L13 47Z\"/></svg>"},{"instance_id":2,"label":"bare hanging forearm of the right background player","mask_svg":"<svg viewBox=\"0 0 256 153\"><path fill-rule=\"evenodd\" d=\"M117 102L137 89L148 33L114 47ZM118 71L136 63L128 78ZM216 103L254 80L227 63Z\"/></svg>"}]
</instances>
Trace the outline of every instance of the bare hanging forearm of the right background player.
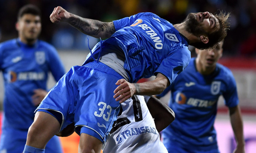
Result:
<instances>
[{"instance_id":1,"label":"bare hanging forearm of the right background player","mask_svg":"<svg viewBox=\"0 0 256 153\"><path fill-rule=\"evenodd\" d=\"M231 126L237 142L237 147L234 150L234 153L245 153L244 130L240 107L229 107L229 115Z\"/></svg>"}]
</instances>

